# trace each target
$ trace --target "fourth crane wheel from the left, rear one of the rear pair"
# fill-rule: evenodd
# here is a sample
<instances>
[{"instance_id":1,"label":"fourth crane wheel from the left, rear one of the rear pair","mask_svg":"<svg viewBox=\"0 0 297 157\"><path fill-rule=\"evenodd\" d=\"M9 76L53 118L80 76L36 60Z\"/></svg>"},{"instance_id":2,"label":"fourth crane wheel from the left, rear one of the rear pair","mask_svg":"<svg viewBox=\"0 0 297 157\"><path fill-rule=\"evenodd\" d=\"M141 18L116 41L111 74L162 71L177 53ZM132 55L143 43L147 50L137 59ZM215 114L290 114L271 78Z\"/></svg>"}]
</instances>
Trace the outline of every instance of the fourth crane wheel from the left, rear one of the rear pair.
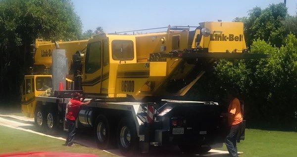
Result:
<instances>
[{"instance_id":1,"label":"fourth crane wheel from the left, rear one of the rear pair","mask_svg":"<svg viewBox=\"0 0 297 157\"><path fill-rule=\"evenodd\" d=\"M131 157L137 153L139 139L132 118L122 118L117 128L117 145L124 156Z\"/></svg>"}]
</instances>

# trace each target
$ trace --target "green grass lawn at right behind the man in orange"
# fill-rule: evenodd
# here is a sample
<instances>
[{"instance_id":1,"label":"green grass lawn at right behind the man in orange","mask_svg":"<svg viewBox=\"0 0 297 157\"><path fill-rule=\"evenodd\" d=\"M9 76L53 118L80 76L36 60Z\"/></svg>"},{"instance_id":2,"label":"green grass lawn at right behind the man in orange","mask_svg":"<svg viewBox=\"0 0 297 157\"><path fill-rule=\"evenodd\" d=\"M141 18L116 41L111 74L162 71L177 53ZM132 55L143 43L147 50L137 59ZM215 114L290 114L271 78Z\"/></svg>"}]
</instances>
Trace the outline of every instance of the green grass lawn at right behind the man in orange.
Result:
<instances>
[{"instance_id":1,"label":"green grass lawn at right behind the man in orange","mask_svg":"<svg viewBox=\"0 0 297 157\"><path fill-rule=\"evenodd\" d=\"M240 157L297 157L297 132L246 129L245 137L237 145Z\"/></svg>"}]
</instances>

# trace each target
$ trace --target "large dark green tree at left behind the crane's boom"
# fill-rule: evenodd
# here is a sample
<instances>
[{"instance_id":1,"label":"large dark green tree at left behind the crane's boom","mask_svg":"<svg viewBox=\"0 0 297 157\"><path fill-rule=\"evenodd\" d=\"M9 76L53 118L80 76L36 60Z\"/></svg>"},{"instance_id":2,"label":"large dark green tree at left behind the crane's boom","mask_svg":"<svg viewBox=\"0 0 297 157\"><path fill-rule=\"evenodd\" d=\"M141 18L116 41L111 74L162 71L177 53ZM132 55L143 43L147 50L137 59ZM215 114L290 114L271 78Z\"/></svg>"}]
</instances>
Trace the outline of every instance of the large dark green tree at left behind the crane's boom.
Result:
<instances>
[{"instance_id":1,"label":"large dark green tree at left behind the crane's boom","mask_svg":"<svg viewBox=\"0 0 297 157\"><path fill-rule=\"evenodd\" d=\"M35 39L79 39L81 28L70 0L0 0L2 98L19 94L23 74L33 63Z\"/></svg>"}]
</instances>

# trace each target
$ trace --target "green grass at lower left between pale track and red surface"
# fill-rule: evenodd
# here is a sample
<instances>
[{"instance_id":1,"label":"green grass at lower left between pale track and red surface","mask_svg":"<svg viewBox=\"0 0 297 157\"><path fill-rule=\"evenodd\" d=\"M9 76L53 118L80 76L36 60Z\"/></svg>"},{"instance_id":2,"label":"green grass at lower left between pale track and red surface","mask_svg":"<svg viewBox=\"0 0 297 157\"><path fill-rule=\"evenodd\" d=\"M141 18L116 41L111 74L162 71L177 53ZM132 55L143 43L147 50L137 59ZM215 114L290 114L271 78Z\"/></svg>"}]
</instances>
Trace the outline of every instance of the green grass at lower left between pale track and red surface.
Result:
<instances>
[{"instance_id":1,"label":"green grass at lower left between pale track and red surface","mask_svg":"<svg viewBox=\"0 0 297 157\"><path fill-rule=\"evenodd\" d=\"M65 141L31 132L0 126L0 154L12 152L71 152L95 154L99 157L113 157L99 149L75 145L63 146Z\"/></svg>"}]
</instances>

